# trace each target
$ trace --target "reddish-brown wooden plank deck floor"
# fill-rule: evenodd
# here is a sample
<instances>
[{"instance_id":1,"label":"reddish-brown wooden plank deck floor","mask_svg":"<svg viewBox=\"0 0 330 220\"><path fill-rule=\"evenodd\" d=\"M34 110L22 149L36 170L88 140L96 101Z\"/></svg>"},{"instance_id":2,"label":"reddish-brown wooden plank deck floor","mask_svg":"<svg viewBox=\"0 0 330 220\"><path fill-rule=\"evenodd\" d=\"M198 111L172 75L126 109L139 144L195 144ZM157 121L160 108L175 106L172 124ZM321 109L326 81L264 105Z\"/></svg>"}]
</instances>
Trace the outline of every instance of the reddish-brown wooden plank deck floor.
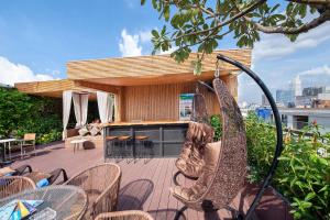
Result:
<instances>
[{"instance_id":1,"label":"reddish-brown wooden plank deck floor","mask_svg":"<svg viewBox=\"0 0 330 220\"><path fill-rule=\"evenodd\" d=\"M61 142L37 151L36 156L16 161L13 167L30 164L33 169L45 172L63 167L68 176L72 176L89 166L105 162L102 148L80 150L74 154L72 148L65 148L64 143ZM129 164L127 161L119 162L122 168L119 210L140 209L150 212L155 219L173 219L176 210L183 206L169 194L169 187L174 185L172 176L177 170L174 162L175 158L152 158L147 163L143 160ZM185 185L191 184L183 177L179 180ZM242 189L231 206L246 211L255 190L253 187ZM232 219L232 213L220 210L205 216L202 212L189 209L185 211L185 217L188 220ZM285 202L274 196L270 189L263 197L254 219L277 220L290 219L290 217Z\"/></svg>"}]
</instances>

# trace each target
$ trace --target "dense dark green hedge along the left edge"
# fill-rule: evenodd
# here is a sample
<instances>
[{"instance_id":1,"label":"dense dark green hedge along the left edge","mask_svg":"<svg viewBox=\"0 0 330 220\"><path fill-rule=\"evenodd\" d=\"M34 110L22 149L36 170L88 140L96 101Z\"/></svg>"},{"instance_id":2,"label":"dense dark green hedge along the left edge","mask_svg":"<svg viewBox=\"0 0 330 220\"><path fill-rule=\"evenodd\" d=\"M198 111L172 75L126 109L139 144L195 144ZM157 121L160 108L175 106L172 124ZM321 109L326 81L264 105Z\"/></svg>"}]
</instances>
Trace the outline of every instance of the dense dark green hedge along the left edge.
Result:
<instances>
[{"instance_id":1,"label":"dense dark green hedge along the left edge","mask_svg":"<svg viewBox=\"0 0 330 220\"><path fill-rule=\"evenodd\" d=\"M36 133L37 143L61 140L62 101L32 97L15 89L0 89L0 136Z\"/></svg>"}]
</instances>

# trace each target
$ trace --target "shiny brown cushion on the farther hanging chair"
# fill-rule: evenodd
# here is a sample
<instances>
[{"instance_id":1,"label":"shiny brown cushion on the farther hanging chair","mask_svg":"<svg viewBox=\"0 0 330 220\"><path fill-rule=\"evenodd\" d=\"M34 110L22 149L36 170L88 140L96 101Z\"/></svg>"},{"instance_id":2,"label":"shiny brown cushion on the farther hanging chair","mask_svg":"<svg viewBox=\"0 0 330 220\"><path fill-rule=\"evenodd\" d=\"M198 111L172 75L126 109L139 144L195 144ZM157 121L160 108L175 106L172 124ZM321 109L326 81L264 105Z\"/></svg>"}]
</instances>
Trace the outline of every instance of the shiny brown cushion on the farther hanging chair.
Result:
<instances>
[{"instance_id":1,"label":"shiny brown cushion on the farther hanging chair","mask_svg":"<svg viewBox=\"0 0 330 220\"><path fill-rule=\"evenodd\" d=\"M189 177L199 177L205 165L204 154L207 143L213 141L215 130L205 123L189 122L186 142L175 165Z\"/></svg>"}]
</instances>

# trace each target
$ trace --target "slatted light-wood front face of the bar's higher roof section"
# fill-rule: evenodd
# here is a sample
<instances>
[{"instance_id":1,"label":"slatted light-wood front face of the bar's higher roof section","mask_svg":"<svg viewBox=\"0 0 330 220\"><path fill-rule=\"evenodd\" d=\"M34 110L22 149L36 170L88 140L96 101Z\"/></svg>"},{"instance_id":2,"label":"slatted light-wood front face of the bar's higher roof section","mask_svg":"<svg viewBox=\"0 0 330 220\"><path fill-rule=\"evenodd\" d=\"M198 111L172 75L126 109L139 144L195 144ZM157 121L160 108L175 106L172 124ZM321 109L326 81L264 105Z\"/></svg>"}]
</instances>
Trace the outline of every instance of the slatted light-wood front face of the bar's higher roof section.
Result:
<instances>
[{"instance_id":1,"label":"slatted light-wood front face of the bar's higher roof section","mask_svg":"<svg viewBox=\"0 0 330 220\"><path fill-rule=\"evenodd\" d=\"M216 51L212 54L205 56L202 61L204 74L215 72L217 62L216 56L219 53L237 59L246 66L251 65L251 50ZM194 66L191 63L196 61L196 58L197 54L191 53L189 58L180 64L175 62L170 55L73 61L67 63L67 76L68 79L102 79L102 82L105 82L103 79L109 78L109 80L112 80L114 77L122 78L123 80L125 77L134 78L134 80L135 78L151 79L154 77L154 79L157 80L152 80L152 82L157 82L175 76L175 78L173 77L173 80L179 81L180 78L178 76L186 78L187 75L193 75ZM222 74L239 70L228 63L220 63L219 67L222 70ZM178 79L176 79L177 77ZM197 77L193 76L189 78Z\"/></svg>"}]
</instances>

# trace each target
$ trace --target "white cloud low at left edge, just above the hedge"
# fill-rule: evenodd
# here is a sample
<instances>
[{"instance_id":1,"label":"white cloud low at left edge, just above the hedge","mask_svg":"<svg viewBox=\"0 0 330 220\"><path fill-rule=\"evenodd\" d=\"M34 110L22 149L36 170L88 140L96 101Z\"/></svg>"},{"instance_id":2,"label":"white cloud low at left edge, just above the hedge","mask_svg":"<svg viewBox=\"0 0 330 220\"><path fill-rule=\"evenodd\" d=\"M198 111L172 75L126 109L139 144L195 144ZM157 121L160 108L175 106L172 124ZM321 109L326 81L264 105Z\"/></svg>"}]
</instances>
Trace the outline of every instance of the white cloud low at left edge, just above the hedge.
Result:
<instances>
[{"instance_id":1,"label":"white cloud low at left edge, just above the hedge","mask_svg":"<svg viewBox=\"0 0 330 220\"><path fill-rule=\"evenodd\" d=\"M34 74L28 66L11 63L0 56L0 82L13 86L15 82L43 81L54 79L51 75Z\"/></svg>"}]
</instances>

